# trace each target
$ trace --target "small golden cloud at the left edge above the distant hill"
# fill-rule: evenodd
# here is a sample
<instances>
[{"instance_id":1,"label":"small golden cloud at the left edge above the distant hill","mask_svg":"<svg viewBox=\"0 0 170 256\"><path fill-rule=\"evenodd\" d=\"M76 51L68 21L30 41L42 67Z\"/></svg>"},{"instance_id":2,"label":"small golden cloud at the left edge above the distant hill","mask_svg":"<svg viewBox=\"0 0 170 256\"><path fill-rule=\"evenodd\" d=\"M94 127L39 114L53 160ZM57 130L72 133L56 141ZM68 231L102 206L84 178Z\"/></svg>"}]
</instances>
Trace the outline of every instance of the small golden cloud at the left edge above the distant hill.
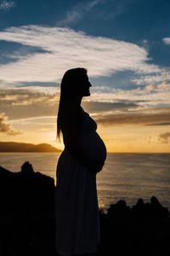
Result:
<instances>
[{"instance_id":1,"label":"small golden cloud at the left edge above the distant hill","mask_svg":"<svg viewBox=\"0 0 170 256\"><path fill-rule=\"evenodd\" d=\"M11 136L16 136L22 133L19 130L15 130L8 123L8 117L5 115L5 113L0 113L0 132L7 133L8 135Z\"/></svg>"}]
</instances>

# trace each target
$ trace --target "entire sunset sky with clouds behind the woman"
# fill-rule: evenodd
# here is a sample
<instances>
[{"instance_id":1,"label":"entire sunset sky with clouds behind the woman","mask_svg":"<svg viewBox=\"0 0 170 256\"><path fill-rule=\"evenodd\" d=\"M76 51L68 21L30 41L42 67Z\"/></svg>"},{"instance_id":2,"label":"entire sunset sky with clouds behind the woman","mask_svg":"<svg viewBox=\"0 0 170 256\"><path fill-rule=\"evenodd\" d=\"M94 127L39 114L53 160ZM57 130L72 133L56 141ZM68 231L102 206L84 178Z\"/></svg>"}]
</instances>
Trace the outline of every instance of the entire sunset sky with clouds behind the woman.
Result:
<instances>
[{"instance_id":1,"label":"entire sunset sky with clouds behind the woman","mask_svg":"<svg viewBox=\"0 0 170 256\"><path fill-rule=\"evenodd\" d=\"M169 0L0 0L0 141L57 148L59 84L85 67L82 108L108 152L170 153Z\"/></svg>"}]
</instances>

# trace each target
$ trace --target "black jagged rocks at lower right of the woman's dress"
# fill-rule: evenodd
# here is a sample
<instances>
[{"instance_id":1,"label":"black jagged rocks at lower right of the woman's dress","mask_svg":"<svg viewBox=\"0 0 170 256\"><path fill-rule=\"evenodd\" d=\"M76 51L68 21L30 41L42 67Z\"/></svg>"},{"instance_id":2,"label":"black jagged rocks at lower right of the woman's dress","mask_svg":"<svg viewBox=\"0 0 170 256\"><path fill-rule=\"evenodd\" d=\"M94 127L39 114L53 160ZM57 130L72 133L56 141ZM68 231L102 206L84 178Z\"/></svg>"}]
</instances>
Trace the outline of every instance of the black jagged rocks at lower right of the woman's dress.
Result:
<instances>
[{"instance_id":1,"label":"black jagged rocks at lower right of the woman's dress","mask_svg":"<svg viewBox=\"0 0 170 256\"><path fill-rule=\"evenodd\" d=\"M169 212L155 196L150 203L140 198L132 208L118 201L107 213L100 211L100 227L102 255L167 255Z\"/></svg>"}]
</instances>

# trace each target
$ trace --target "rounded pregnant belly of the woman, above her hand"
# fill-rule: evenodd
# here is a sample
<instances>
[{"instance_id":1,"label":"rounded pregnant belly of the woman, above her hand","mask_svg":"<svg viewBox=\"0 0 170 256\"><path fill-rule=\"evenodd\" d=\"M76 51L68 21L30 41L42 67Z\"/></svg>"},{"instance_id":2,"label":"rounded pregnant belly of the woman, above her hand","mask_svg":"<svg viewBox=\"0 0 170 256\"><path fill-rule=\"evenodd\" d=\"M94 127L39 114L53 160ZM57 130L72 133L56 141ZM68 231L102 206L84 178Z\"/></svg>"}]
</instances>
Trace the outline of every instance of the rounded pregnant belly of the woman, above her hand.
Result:
<instances>
[{"instance_id":1,"label":"rounded pregnant belly of the woman, above her hand","mask_svg":"<svg viewBox=\"0 0 170 256\"><path fill-rule=\"evenodd\" d=\"M106 159L105 143L99 137L97 132L83 134L81 136L81 146L89 157L99 163L104 163Z\"/></svg>"}]
</instances>

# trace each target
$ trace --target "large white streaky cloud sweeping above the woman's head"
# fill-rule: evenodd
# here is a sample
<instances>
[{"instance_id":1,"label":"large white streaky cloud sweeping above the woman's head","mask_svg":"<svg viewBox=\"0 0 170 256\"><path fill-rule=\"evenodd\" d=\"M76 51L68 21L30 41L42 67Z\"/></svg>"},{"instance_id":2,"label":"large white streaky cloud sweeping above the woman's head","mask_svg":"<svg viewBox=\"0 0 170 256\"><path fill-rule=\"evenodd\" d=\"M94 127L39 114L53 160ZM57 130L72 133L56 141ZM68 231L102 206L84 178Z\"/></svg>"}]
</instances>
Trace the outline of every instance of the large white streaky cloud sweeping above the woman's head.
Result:
<instances>
[{"instance_id":1,"label":"large white streaky cloud sweeping above the woman's head","mask_svg":"<svg viewBox=\"0 0 170 256\"><path fill-rule=\"evenodd\" d=\"M91 77L111 76L118 71L158 73L161 69L148 64L148 52L136 44L111 38L88 36L69 28L20 26L0 32L0 40L43 49L15 62L0 66L0 77L14 82L60 82L65 70L87 67ZM10 73L10 76L8 75Z\"/></svg>"}]
</instances>

